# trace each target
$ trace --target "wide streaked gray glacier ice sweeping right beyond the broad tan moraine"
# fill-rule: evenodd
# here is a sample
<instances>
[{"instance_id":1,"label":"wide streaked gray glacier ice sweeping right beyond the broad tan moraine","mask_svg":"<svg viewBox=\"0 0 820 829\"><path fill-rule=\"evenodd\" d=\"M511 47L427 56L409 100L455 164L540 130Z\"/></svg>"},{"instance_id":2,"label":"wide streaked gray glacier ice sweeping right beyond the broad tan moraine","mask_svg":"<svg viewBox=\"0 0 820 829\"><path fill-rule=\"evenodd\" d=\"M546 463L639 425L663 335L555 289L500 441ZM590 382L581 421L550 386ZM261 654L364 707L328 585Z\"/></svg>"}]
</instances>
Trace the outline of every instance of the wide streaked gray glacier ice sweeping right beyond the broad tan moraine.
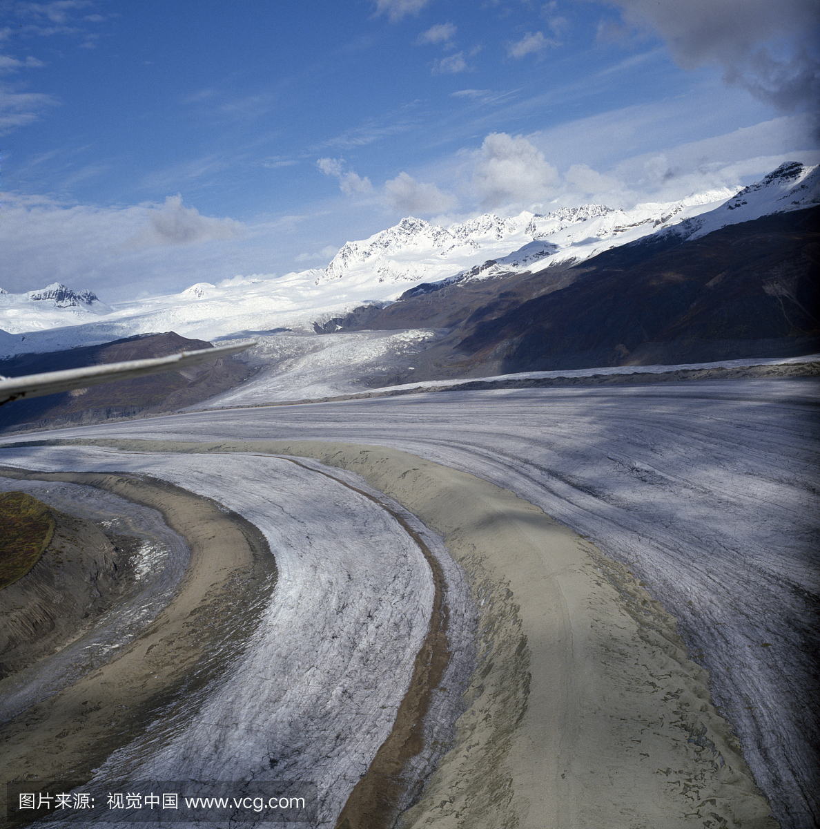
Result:
<instances>
[{"instance_id":1,"label":"wide streaked gray glacier ice sweeping right beyond the broad tan moraine","mask_svg":"<svg viewBox=\"0 0 820 829\"><path fill-rule=\"evenodd\" d=\"M383 444L509 488L644 579L710 671L782 825L813 827L818 402L808 379L453 391L47 436Z\"/></svg>"}]
</instances>

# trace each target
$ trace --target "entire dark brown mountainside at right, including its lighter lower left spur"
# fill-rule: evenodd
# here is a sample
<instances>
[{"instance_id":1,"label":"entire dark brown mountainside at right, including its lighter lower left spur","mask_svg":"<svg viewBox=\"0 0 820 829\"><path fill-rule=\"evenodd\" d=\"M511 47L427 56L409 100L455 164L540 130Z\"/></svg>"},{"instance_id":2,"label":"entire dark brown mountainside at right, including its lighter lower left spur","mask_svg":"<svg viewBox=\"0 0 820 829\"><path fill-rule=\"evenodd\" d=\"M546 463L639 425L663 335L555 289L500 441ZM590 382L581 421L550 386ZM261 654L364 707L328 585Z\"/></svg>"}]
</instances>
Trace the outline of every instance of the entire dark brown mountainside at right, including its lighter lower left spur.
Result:
<instances>
[{"instance_id":1,"label":"entire dark brown mountainside at right, including its lighter lower left spur","mask_svg":"<svg viewBox=\"0 0 820 829\"><path fill-rule=\"evenodd\" d=\"M408 292L331 330L449 329L415 380L808 354L820 350L818 220L815 207L697 240L669 231L576 266Z\"/></svg>"}]
</instances>

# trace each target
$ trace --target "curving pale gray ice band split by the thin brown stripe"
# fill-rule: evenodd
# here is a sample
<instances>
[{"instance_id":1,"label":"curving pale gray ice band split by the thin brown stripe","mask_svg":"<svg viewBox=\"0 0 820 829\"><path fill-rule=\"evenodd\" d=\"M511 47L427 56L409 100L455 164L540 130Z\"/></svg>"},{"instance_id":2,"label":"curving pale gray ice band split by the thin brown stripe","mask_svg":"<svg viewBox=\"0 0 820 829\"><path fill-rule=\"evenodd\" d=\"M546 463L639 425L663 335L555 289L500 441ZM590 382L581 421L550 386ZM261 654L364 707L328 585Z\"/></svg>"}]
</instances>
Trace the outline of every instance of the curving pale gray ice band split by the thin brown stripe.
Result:
<instances>
[{"instance_id":1,"label":"curving pale gray ice band split by the thin brown stripe","mask_svg":"<svg viewBox=\"0 0 820 829\"><path fill-rule=\"evenodd\" d=\"M261 624L228 675L204 700L191 701L200 710L181 724L153 724L95 779L311 781L318 787L316 825L333 825L393 728L435 593L412 536L344 482L398 511L443 566L451 642L462 658L441 682L450 690L434 699L426 727L431 746L446 746L471 672L468 590L441 540L362 479L326 470L337 479L331 480L262 455L37 447L2 456L22 468L141 473L185 487L251 521L276 559L277 586ZM428 756L427 766L435 759ZM418 769L422 776L430 770L423 762Z\"/></svg>"}]
</instances>

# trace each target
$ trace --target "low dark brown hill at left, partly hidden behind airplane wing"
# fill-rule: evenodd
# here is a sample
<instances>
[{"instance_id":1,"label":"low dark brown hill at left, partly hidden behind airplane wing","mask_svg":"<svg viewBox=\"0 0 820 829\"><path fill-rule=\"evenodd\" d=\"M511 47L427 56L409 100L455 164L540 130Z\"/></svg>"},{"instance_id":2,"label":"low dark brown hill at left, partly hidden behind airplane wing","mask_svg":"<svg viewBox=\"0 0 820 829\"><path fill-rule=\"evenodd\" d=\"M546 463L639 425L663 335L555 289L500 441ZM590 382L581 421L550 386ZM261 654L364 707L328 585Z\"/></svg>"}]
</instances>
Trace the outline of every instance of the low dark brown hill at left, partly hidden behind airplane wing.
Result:
<instances>
[{"instance_id":1,"label":"low dark brown hill at left, partly hidden behind airplane wing","mask_svg":"<svg viewBox=\"0 0 820 829\"><path fill-rule=\"evenodd\" d=\"M144 334L98 346L48 354L23 354L0 361L0 374L38 374L211 347L210 342L187 339L174 332ZM220 357L179 371L165 371L31 400L16 400L0 407L0 432L98 423L115 417L173 411L229 389L250 374L251 370L243 363L232 357Z\"/></svg>"}]
</instances>

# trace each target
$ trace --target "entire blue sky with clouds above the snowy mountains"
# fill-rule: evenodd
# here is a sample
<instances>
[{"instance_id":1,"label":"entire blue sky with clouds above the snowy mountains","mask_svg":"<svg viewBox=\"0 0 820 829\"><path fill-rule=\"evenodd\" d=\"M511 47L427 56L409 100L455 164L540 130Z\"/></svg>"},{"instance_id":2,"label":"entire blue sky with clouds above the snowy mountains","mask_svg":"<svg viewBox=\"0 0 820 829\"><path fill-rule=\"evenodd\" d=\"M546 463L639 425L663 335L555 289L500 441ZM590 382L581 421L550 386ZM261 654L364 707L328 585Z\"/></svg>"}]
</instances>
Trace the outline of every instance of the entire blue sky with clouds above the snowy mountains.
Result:
<instances>
[{"instance_id":1,"label":"entire blue sky with clouds above the snowy mountains","mask_svg":"<svg viewBox=\"0 0 820 829\"><path fill-rule=\"evenodd\" d=\"M817 162L813 0L0 0L0 285L321 267L408 214Z\"/></svg>"}]
</instances>

